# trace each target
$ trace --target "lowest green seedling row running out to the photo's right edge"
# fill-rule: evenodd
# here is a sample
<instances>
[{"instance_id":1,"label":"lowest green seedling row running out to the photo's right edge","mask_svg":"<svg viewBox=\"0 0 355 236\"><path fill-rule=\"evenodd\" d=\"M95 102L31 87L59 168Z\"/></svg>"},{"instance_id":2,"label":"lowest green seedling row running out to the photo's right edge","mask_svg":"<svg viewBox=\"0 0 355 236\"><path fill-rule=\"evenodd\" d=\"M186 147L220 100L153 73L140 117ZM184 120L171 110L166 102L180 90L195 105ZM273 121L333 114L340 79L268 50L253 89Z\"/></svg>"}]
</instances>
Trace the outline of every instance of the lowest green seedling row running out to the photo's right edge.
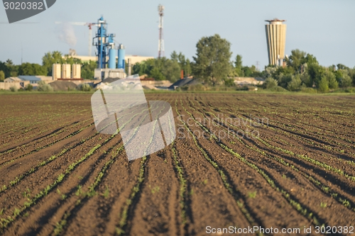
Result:
<instances>
[{"instance_id":1,"label":"lowest green seedling row running out to the photo's right edge","mask_svg":"<svg viewBox=\"0 0 355 236\"><path fill-rule=\"evenodd\" d=\"M206 112L206 113L209 113L211 114L212 116L214 116L214 118L217 118L217 120L219 120L219 122L222 122L220 120L220 118L218 118L214 113L212 112ZM213 121L214 122L214 121ZM216 124L217 126L219 126L220 128L222 129L226 129L223 125L221 125L220 123L216 123L214 122L214 124ZM238 127L236 127L235 125L232 125L231 123L226 123L228 124L230 127L233 127L233 128L236 128L237 130L240 130ZM240 130L242 131L242 130ZM263 150L259 150L255 145L253 147L247 145L243 140L241 140L240 137L234 135L233 133L231 133L232 137L234 137L236 140L238 140L239 142L241 142L242 145L244 145L245 147L249 148L250 150L253 150L255 152L258 152L260 154L262 154L263 156L265 157L268 157L270 159L273 159L275 160L276 162L279 162L280 164L283 164L283 166L285 167L289 167L290 169L292 169L293 171L301 174L303 177L305 177L305 179L309 180L314 186L317 187L317 189L320 189L323 193L327 194L328 196L331 196L332 198L336 199L339 203L341 203L343 206L345 206L346 208L349 208L353 211L355 211L355 208L353 206L354 203L349 200L348 198L346 198L345 196L342 196L342 194L340 193L337 193L337 191L334 191L332 190L329 186L325 185L325 184L322 184L321 181L319 181L318 179L316 179L315 177L312 177L310 176L309 174L305 173L305 172L302 172L300 169L298 169L297 167L295 167L294 164L290 163L290 162L287 162L285 161L285 159L282 159L280 157L275 157L271 154L267 154L266 152L264 152ZM251 133L251 135L254 137L254 138L257 138L255 135L253 135ZM260 140L259 140L260 141ZM260 141L261 142L261 141ZM232 143L234 144L234 143ZM266 143L264 143L264 145L267 145ZM271 147L271 146L268 146L268 147Z\"/></svg>"}]
</instances>

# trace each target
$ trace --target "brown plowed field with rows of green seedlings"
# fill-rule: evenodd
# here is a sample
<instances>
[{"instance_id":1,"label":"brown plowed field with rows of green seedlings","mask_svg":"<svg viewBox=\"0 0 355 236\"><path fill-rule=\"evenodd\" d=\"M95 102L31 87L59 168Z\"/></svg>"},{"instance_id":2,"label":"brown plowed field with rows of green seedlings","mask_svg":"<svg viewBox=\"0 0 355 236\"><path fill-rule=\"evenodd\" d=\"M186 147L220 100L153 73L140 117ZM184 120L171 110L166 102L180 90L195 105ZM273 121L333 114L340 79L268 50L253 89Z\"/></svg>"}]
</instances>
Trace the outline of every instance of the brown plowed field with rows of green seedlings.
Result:
<instances>
[{"instance_id":1,"label":"brown plowed field with rows of green seedlings","mask_svg":"<svg viewBox=\"0 0 355 236\"><path fill-rule=\"evenodd\" d=\"M1 235L355 235L354 96L146 94L177 137L131 162L90 96L0 96Z\"/></svg>"}]
</instances>

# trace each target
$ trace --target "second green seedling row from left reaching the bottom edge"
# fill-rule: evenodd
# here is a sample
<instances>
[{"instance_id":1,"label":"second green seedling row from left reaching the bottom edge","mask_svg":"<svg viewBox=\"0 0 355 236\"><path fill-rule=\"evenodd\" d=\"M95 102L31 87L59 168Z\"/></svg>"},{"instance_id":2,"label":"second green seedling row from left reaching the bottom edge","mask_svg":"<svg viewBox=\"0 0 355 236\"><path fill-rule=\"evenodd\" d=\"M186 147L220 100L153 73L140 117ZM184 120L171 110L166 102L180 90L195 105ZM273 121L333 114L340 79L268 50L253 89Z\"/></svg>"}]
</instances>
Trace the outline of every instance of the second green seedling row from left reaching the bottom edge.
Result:
<instances>
[{"instance_id":1,"label":"second green seedling row from left reaching the bottom edge","mask_svg":"<svg viewBox=\"0 0 355 236\"><path fill-rule=\"evenodd\" d=\"M164 107L162 109L160 109L160 112L158 113L158 116L160 115L160 113L163 111ZM155 125L156 122L153 125L153 130L155 130ZM138 127L134 130L134 134L136 133L136 130L138 130ZM153 141L153 134L151 136L151 139L148 142L148 145L151 145L151 142ZM139 167L139 172L138 172L138 179L136 182L136 185L133 186L133 189L131 189L131 194L129 196L129 198L126 199L126 203L122 209L121 214L119 215L119 225L116 226L115 232L117 235L123 235L125 234L125 229L127 226L127 218L128 218L128 212L129 212L129 208L131 207L134 199L136 198L137 194L139 191L141 191L141 186L143 184L144 181L144 174L146 172L146 161L147 161L147 157L146 155L144 155L141 159L140 162L140 167Z\"/></svg>"}]
</instances>

